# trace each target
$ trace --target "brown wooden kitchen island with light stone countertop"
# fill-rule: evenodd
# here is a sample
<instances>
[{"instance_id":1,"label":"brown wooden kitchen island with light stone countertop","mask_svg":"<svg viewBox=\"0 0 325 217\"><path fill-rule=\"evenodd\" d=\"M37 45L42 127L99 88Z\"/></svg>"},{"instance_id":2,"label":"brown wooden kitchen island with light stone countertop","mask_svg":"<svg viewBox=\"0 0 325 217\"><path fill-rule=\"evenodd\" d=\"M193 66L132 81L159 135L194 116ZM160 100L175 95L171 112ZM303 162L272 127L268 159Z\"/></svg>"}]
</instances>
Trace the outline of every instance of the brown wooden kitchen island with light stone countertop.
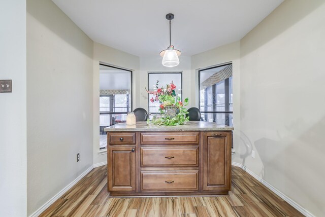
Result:
<instances>
[{"instance_id":1,"label":"brown wooden kitchen island with light stone countertop","mask_svg":"<svg viewBox=\"0 0 325 217\"><path fill-rule=\"evenodd\" d=\"M228 194L233 129L199 121L105 128L110 195Z\"/></svg>"}]
</instances>

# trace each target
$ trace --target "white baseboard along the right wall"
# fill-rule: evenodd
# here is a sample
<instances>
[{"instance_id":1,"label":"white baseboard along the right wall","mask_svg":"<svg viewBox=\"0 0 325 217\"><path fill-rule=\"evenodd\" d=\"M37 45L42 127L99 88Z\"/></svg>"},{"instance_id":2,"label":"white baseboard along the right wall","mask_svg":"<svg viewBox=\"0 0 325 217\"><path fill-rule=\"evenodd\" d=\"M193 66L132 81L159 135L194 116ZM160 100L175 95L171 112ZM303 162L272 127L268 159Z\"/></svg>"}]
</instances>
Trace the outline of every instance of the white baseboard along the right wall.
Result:
<instances>
[{"instance_id":1,"label":"white baseboard along the right wall","mask_svg":"<svg viewBox=\"0 0 325 217\"><path fill-rule=\"evenodd\" d=\"M282 192L280 192L278 189L276 189L271 184L269 184L268 182L266 182L266 180L264 180L263 178L261 178L258 175L256 175L254 172L252 172L251 170L249 170L246 166L244 166L244 165L242 165L240 163L236 163L236 162L232 162L232 165L233 166L238 166L238 167L242 168L243 170L245 170L248 174L250 174L256 180L258 180L258 182L262 183L264 186L266 186L268 189L270 189L272 192L274 192L276 195L278 195L280 198L282 198L285 202L287 202L291 206L295 207L303 215L305 215L307 217L315 217L308 210L306 210L305 208L303 208L302 206L300 206L298 203L296 203L294 200L292 200L291 198L289 198L288 196L286 196L285 194L283 194Z\"/></svg>"}]
</instances>

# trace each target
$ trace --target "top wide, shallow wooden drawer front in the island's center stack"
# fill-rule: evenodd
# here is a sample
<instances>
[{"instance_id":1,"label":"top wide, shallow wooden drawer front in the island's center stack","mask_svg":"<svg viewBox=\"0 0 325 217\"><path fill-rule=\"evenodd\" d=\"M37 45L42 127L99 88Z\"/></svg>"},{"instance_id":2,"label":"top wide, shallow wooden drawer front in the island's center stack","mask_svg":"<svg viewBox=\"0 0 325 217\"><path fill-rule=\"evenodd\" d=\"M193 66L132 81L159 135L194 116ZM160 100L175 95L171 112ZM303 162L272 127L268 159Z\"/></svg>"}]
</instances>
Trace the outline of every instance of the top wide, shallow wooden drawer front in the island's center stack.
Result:
<instances>
[{"instance_id":1,"label":"top wide, shallow wooden drawer front in the island's center stack","mask_svg":"<svg viewBox=\"0 0 325 217\"><path fill-rule=\"evenodd\" d=\"M141 133L141 144L199 144L199 132Z\"/></svg>"}]
</instances>

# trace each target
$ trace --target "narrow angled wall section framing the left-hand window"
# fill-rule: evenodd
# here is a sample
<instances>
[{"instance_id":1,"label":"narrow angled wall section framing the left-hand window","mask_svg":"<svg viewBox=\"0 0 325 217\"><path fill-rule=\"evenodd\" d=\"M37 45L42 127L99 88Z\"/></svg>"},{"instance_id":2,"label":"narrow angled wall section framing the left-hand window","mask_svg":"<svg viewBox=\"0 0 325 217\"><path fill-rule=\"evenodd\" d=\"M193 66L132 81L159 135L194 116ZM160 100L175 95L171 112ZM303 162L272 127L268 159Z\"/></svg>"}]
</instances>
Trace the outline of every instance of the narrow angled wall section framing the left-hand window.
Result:
<instances>
[{"instance_id":1,"label":"narrow angled wall section framing the left-hand window","mask_svg":"<svg viewBox=\"0 0 325 217\"><path fill-rule=\"evenodd\" d=\"M100 149L100 62L133 70L133 106L136 102L136 79L139 74L139 57L99 43L93 43L93 164L107 161L107 153ZM122 82L122 81L121 81Z\"/></svg>"}]
</instances>

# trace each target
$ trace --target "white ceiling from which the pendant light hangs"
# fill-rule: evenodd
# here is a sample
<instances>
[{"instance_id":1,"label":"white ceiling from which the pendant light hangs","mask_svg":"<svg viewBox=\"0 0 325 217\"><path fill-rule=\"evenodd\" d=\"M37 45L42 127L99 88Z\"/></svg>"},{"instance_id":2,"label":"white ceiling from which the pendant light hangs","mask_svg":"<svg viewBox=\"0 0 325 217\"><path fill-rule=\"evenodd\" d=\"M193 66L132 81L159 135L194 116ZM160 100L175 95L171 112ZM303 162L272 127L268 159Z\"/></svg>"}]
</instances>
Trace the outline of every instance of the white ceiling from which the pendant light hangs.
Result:
<instances>
[{"instance_id":1,"label":"white ceiling from which the pendant light hangs","mask_svg":"<svg viewBox=\"0 0 325 217\"><path fill-rule=\"evenodd\" d=\"M136 56L191 56L239 41L283 0L52 0L93 41Z\"/></svg>"}]
</instances>

